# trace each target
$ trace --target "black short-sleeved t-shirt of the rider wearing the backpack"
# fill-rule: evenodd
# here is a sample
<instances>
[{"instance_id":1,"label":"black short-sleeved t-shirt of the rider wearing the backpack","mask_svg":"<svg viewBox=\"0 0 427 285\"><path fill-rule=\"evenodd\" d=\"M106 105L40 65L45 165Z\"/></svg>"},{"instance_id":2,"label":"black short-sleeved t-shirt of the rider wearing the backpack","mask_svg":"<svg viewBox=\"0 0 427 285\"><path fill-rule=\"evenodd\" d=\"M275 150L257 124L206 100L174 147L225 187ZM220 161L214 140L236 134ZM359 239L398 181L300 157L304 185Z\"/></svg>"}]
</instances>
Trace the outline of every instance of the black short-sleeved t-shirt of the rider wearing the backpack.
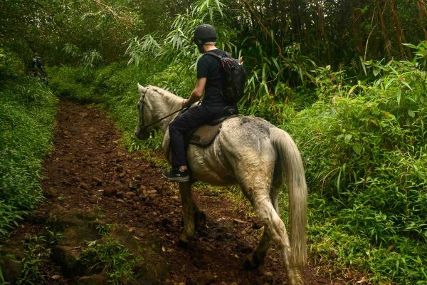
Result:
<instances>
[{"instance_id":1,"label":"black short-sleeved t-shirt of the rider wearing the backpack","mask_svg":"<svg viewBox=\"0 0 427 285\"><path fill-rule=\"evenodd\" d=\"M215 49L213 51L220 56L228 56L225 51L221 51L220 49ZM221 96L223 88L223 68L221 67L219 58L209 56L209 54L201 56L197 62L197 78L201 77L206 77L204 98L201 101L202 105L206 107L225 107L226 105L233 105L227 103Z\"/></svg>"}]
</instances>

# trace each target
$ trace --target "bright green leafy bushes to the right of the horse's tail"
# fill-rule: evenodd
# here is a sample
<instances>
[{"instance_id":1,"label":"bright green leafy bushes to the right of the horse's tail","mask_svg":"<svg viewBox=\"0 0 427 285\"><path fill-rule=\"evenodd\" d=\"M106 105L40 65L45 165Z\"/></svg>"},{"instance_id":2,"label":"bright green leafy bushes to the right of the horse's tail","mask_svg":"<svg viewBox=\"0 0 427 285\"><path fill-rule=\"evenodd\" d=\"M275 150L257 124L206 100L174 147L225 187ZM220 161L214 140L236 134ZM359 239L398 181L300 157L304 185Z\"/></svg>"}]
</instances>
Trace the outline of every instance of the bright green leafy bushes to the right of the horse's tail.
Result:
<instances>
[{"instance_id":1,"label":"bright green leafy bushes to the right of the horse's tail","mask_svg":"<svg viewBox=\"0 0 427 285\"><path fill-rule=\"evenodd\" d=\"M320 100L283 126L305 160L312 251L375 282L427 280L427 81L418 60L363 62L369 78L354 86L342 71L317 68Z\"/></svg>"}]
</instances>

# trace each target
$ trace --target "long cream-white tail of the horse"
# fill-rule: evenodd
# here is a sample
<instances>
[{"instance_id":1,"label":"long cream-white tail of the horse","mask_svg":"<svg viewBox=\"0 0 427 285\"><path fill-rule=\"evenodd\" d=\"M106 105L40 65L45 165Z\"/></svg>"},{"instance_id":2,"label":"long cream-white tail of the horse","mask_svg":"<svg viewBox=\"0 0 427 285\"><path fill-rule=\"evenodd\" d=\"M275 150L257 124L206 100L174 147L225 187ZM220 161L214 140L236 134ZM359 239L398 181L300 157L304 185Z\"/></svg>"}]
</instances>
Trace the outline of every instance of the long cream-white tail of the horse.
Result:
<instances>
[{"instance_id":1,"label":"long cream-white tail of the horse","mask_svg":"<svg viewBox=\"0 0 427 285\"><path fill-rule=\"evenodd\" d=\"M297 266L307 261L307 185L304 166L297 145L290 135L279 128L270 128L270 140L273 142L279 163L279 175L288 181L290 212L291 260Z\"/></svg>"}]
</instances>

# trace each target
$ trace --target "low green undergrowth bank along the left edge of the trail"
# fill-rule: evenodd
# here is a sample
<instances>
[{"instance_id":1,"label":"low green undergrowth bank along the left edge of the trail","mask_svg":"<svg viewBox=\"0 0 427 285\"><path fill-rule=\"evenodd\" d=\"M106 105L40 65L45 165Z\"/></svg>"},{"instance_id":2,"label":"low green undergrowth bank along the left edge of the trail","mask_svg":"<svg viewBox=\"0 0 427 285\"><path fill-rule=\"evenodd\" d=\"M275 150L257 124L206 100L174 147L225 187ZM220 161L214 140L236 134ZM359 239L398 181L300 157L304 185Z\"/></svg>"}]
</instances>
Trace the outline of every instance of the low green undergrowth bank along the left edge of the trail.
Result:
<instances>
[{"instance_id":1,"label":"low green undergrowth bank along the left edge of the trail","mask_svg":"<svg viewBox=\"0 0 427 285\"><path fill-rule=\"evenodd\" d=\"M50 150L56 98L36 78L0 88L0 234L41 200L41 163Z\"/></svg>"}]
</instances>

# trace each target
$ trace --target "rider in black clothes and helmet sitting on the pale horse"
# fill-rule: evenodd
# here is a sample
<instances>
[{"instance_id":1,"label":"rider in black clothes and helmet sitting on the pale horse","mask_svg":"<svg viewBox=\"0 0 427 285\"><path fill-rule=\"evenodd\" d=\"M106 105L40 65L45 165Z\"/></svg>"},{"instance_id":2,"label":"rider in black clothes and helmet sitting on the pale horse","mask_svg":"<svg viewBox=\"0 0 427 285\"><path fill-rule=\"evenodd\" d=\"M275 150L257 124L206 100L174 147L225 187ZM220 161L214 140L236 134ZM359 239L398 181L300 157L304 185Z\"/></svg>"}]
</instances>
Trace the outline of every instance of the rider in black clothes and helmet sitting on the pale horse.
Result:
<instances>
[{"instance_id":1,"label":"rider in black clothes and helmet sitting on the pale horse","mask_svg":"<svg viewBox=\"0 0 427 285\"><path fill-rule=\"evenodd\" d=\"M208 24L198 26L194 30L194 43L201 53L212 51L220 56L228 56L215 46L216 31ZM186 143L184 133L201 125L210 123L221 115L223 108L235 103L227 103L221 96L223 89L223 70L221 63L215 56L201 56L197 62L196 87L187 100L182 101L182 106L187 107L204 99L186 112L181 113L169 125L170 145L172 147L172 168L163 172L163 177L169 181L189 181L189 169L186 161Z\"/></svg>"}]
</instances>

